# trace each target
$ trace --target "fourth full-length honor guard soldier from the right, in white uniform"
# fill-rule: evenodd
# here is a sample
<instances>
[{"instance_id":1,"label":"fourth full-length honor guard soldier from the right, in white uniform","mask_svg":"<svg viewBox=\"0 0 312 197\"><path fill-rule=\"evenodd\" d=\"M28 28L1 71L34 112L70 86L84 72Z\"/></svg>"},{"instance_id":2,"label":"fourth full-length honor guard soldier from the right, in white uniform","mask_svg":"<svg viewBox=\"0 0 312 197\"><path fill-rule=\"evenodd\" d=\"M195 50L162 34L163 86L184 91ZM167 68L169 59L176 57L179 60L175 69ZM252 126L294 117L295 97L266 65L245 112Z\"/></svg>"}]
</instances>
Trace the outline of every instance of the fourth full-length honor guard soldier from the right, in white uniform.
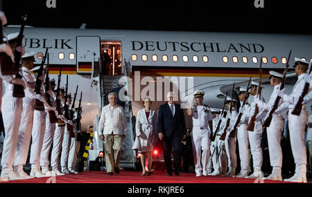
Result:
<instances>
[{"instance_id":1,"label":"fourth full-length honor guard soldier from the right, in white uniform","mask_svg":"<svg viewBox=\"0 0 312 197\"><path fill-rule=\"evenodd\" d=\"M245 104L243 106L243 102L245 100L246 89L239 88L239 102L241 102L241 107L239 112L242 113L241 121L239 122L239 126L237 126L237 140L239 142L239 158L241 159L241 171L235 177L245 178L248 176L248 172L250 171L250 158L249 158L249 150L248 150L248 120L245 118L244 109L249 108L249 104ZM235 120L236 122L236 120Z\"/></svg>"}]
</instances>

